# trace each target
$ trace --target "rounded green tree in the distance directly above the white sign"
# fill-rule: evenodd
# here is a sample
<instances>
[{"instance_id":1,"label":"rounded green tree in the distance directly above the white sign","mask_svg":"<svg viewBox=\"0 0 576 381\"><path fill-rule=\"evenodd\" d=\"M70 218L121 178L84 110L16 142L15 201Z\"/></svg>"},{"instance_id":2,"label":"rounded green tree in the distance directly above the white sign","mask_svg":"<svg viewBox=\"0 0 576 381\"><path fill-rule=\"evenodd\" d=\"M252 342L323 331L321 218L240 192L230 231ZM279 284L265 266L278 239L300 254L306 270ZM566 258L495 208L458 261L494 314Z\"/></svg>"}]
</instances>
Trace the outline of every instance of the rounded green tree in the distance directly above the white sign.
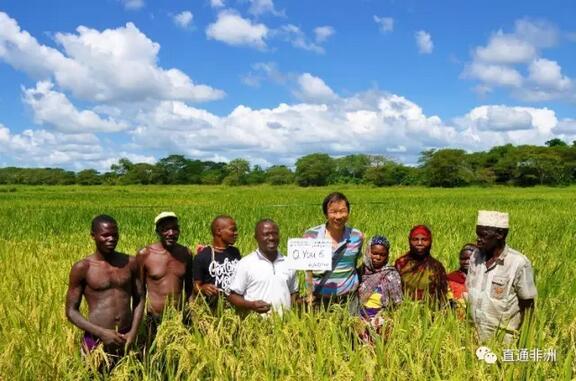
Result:
<instances>
[{"instance_id":1,"label":"rounded green tree in the distance directly above the white sign","mask_svg":"<svg viewBox=\"0 0 576 381\"><path fill-rule=\"evenodd\" d=\"M334 159L325 153L303 156L296 161L296 182L303 187L326 185L335 167Z\"/></svg>"}]
</instances>

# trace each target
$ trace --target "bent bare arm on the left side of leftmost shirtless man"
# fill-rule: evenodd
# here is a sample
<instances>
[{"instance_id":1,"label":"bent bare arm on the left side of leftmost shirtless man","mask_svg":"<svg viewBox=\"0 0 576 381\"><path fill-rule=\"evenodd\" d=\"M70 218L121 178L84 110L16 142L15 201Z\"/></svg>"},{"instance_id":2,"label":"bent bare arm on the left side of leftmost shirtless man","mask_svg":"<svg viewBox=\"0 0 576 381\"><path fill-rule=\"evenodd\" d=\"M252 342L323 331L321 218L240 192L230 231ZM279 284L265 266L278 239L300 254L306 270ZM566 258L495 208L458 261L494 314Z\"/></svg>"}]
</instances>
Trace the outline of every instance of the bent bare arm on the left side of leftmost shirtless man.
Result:
<instances>
[{"instance_id":1,"label":"bent bare arm on the left side of leftmost shirtless man","mask_svg":"<svg viewBox=\"0 0 576 381\"><path fill-rule=\"evenodd\" d=\"M100 327L84 318L80 313L80 303L86 287L86 273L89 264L86 260L77 262L70 270L68 292L66 293L66 317L76 327L102 339L104 344L123 345L124 337L111 329Z\"/></svg>"}]
</instances>

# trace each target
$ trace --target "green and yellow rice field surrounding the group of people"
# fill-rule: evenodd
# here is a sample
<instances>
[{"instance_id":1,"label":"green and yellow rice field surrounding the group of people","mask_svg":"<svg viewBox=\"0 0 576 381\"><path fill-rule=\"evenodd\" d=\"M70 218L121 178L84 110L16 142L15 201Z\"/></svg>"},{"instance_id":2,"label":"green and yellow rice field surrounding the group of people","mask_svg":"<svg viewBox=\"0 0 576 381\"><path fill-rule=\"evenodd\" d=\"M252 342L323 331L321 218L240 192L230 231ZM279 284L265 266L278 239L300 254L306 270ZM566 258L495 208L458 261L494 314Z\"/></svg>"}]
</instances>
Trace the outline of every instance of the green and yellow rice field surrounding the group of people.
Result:
<instances>
[{"instance_id":1,"label":"green and yellow rice field surrounding the group of people","mask_svg":"<svg viewBox=\"0 0 576 381\"><path fill-rule=\"evenodd\" d=\"M576 378L576 188L298 187L0 187L0 380L82 380L91 371L79 352L81 332L64 314L68 273L90 254L91 219L115 217L118 250L134 254L155 240L153 219L180 216L180 243L210 242L209 223L230 214L237 246L255 248L255 222L278 222L281 250L324 221L321 202L339 190L351 201L350 225L367 237L385 234L390 261L408 248L415 224L433 233L432 253L448 271L458 251L475 240L478 209L508 211L508 243L535 270L536 317L512 347L488 347L496 364L476 358L469 322L451 311L404 303L392 313L389 335L373 345L356 340L358 321L343 309L283 318L245 319L227 310L214 317L196 308L187 328L174 316L160 328L149 356L126 356L105 376L113 380L570 380ZM505 351L555 353L555 359L503 361ZM508 352L510 353L510 352ZM554 361L555 360L555 361Z\"/></svg>"}]
</instances>

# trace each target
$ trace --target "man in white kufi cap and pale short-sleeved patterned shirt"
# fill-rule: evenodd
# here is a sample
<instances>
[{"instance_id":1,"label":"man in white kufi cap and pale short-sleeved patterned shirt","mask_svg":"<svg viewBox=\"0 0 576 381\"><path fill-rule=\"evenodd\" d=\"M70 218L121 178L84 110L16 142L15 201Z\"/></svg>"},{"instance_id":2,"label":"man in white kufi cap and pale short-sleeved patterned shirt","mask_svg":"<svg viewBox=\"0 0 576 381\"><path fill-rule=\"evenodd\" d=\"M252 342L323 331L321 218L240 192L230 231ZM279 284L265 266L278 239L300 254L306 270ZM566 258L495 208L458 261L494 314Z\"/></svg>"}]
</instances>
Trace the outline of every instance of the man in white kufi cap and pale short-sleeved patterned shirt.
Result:
<instances>
[{"instance_id":1,"label":"man in white kufi cap and pale short-sleeved patterned shirt","mask_svg":"<svg viewBox=\"0 0 576 381\"><path fill-rule=\"evenodd\" d=\"M481 342L503 334L511 343L534 306L536 286L528 258L506 245L508 213L478 211L478 251L466 278L468 303Z\"/></svg>"}]
</instances>

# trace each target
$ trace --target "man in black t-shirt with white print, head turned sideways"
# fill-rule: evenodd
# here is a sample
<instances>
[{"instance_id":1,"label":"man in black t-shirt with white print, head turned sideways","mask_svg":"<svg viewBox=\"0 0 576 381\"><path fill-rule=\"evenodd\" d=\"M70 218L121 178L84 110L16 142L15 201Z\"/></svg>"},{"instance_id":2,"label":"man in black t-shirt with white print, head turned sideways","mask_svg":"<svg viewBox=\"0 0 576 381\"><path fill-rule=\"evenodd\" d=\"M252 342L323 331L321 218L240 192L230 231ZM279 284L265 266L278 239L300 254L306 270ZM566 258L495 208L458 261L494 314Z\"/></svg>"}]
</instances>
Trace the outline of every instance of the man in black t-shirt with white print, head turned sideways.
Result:
<instances>
[{"instance_id":1,"label":"man in black t-shirt with white print, head turned sideways","mask_svg":"<svg viewBox=\"0 0 576 381\"><path fill-rule=\"evenodd\" d=\"M206 297L215 307L218 295L229 294L230 282L240 261L240 252L234 243L238 237L236 222L230 216L216 217L210 226L212 245L204 247L194 257L194 290Z\"/></svg>"}]
</instances>

